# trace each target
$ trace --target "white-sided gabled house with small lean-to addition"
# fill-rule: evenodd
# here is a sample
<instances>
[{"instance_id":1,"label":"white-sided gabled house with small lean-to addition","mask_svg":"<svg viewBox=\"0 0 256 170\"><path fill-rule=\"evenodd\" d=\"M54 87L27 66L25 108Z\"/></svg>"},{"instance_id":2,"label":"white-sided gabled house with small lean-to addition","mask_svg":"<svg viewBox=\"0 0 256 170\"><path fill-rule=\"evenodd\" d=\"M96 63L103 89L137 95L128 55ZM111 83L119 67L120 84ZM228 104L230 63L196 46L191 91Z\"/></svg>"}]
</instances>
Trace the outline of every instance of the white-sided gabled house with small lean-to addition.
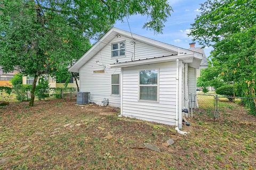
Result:
<instances>
[{"instance_id":1,"label":"white-sided gabled house with small lean-to addition","mask_svg":"<svg viewBox=\"0 0 256 170\"><path fill-rule=\"evenodd\" d=\"M182 126L188 94L196 94L203 54L111 28L70 68L90 100L121 108L121 115Z\"/></svg>"}]
</instances>

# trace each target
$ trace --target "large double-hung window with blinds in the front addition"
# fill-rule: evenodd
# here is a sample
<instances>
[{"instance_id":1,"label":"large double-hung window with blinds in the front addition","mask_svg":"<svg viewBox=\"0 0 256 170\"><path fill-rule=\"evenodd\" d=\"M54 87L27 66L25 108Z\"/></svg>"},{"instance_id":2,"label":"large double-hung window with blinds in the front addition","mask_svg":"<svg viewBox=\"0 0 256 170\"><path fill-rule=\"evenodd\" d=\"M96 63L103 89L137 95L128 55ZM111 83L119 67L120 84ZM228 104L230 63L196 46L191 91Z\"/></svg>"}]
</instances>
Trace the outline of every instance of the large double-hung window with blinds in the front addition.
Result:
<instances>
[{"instance_id":1,"label":"large double-hung window with blinds in the front addition","mask_svg":"<svg viewBox=\"0 0 256 170\"><path fill-rule=\"evenodd\" d=\"M140 100L157 101L158 98L158 70L140 71Z\"/></svg>"}]
</instances>

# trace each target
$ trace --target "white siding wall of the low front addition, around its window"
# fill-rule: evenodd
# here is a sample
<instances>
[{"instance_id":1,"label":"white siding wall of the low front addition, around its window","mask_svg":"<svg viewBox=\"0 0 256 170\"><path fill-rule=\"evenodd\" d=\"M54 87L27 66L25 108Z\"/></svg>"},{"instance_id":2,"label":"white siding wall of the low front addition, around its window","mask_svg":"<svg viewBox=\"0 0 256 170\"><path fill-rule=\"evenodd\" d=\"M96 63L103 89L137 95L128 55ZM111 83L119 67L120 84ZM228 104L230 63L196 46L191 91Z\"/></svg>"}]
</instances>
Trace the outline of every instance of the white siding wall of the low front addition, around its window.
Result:
<instances>
[{"instance_id":1,"label":"white siding wall of the low front addition, around its window","mask_svg":"<svg viewBox=\"0 0 256 170\"><path fill-rule=\"evenodd\" d=\"M158 102L139 101L139 71L158 69ZM122 115L141 120L175 125L176 62L123 68Z\"/></svg>"}]
</instances>

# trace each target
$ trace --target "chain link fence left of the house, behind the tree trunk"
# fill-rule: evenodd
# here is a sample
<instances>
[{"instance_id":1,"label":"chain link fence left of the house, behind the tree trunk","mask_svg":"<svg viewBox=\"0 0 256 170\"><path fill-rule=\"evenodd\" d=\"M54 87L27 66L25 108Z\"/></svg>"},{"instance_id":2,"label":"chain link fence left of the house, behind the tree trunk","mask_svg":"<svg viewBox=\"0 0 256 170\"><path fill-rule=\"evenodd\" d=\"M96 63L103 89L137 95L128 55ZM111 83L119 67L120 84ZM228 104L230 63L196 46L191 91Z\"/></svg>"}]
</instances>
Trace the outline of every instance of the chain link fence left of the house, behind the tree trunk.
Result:
<instances>
[{"instance_id":1,"label":"chain link fence left of the house, behind the tree trunk","mask_svg":"<svg viewBox=\"0 0 256 170\"><path fill-rule=\"evenodd\" d=\"M44 99L76 99L77 88L50 88L40 96L35 93L35 100ZM29 86L3 87L0 86L0 101L28 101L31 97Z\"/></svg>"}]
</instances>

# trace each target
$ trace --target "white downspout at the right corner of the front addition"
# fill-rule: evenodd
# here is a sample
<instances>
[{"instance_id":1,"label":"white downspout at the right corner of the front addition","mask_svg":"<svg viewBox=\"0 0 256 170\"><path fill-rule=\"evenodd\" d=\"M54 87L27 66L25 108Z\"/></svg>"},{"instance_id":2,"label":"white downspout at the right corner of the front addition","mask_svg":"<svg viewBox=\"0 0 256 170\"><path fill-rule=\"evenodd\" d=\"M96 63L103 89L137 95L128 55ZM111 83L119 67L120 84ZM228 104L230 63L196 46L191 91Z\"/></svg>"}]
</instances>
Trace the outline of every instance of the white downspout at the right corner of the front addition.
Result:
<instances>
[{"instance_id":1,"label":"white downspout at the right corner of the front addition","mask_svg":"<svg viewBox=\"0 0 256 170\"><path fill-rule=\"evenodd\" d=\"M179 134L187 134L188 132L180 131L179 129L179 59L176 60L176 128Z\"/></svg>"}]
</instances>

